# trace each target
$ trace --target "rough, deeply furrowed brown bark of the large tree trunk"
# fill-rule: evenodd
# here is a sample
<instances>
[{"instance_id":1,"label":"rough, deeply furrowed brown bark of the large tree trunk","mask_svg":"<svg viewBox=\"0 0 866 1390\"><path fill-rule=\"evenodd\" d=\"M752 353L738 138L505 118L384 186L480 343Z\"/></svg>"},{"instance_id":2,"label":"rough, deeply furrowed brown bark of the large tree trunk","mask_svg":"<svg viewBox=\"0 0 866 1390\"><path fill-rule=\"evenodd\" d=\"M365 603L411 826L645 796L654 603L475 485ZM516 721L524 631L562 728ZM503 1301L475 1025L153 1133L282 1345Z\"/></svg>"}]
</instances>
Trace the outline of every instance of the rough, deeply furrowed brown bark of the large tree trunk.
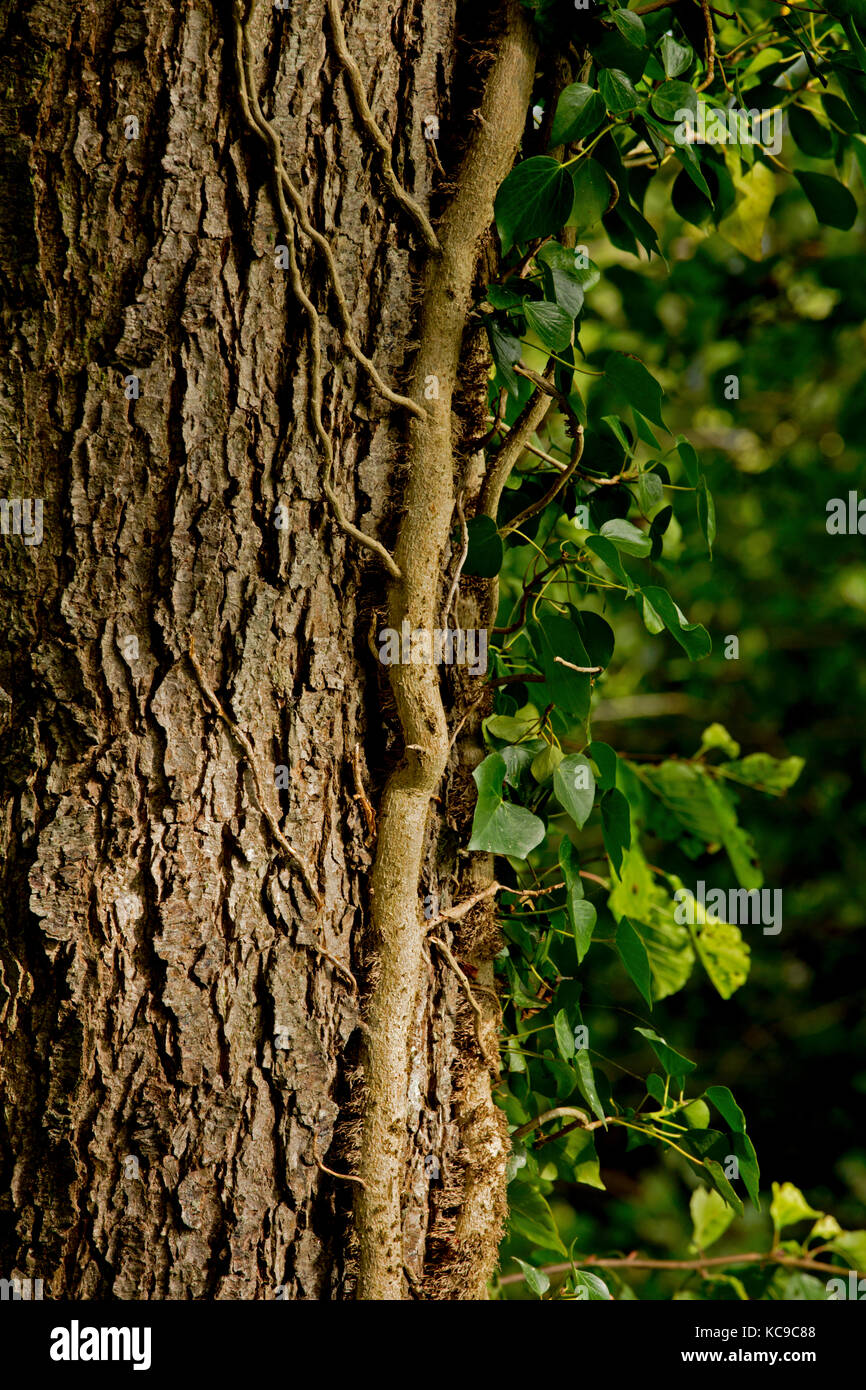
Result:
<instances>
[{"instance_id":1,"label":"rough, deeply furrowed brown bark of the large tree trunk","mask_svg":"<svg viewBox=\"0 0 866 1390\"><path fill-rule=\"evenodd\" d=\"M484 8L341 7L396 172L434 220L450 190L424 118L455 177L491 54L524 22L512 0ZM382 181L327 11L259 4L250 96L331 242L360 348L418 399L430 252ZM7 509L0 1273L42 1277L54 1298L352 1298L378 1238L370 1154L357 1209L357 1183L334 1176L357 1175L373 1133L370 806L411 758L375 659L388 575L322 495L309 324L281 265L271 152L239 101L232 10L11 0L0 25L0 496L42 499L44 532L25 543ZM514 53L525 86L525 31ZM393 546L411 435L432 427L410 430L374 389L321 247L302 229L293 247L321 321L334 489ZM471 512L477 327L443 370L446 404L430 411L453 448L443 496L460 489ZM431 614L460 552L450 506L435 524ZM413 563L406 539L399 559ZM481 588L463 587L466 623ZM480 689L443 677L448 737L467 721L411 830L420 922L425 897L435 916L430 902L489 880L482 856L457 853ZM495 1262L507 1140L489 902L435 931L477 972L484 1024L421 931L388 1122L402 1269L392 1252L361 1297L480 1298Z\"/></svg>"}]
</instances>

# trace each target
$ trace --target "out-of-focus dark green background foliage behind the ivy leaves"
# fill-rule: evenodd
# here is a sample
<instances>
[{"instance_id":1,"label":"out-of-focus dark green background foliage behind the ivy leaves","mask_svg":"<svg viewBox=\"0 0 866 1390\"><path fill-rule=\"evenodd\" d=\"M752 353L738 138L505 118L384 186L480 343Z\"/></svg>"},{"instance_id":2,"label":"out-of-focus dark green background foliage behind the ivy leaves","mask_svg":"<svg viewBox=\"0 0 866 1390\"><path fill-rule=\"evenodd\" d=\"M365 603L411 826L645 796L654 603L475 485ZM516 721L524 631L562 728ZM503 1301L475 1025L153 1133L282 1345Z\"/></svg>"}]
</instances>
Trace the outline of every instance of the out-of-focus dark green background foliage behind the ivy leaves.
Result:
<instances>
[{"instance_id":1,"label":"out-of-focus dark green background foliage behind the ivy leaves","mask_svg":"<svg viewBox=\"0 0 866 1390\"><path fill-rule=\"evenodd\" d=\"M808 165L785 136L781 163L788 168L791 156ZM670 638L646 632L637 606L617 605L616 619L609 616L616 656L596 687L592 735L628 756L691 756L702 730L719 721L744 756L767 751L805 759L785 798L769 801L748 790L741 796L740 817L758 844L765 884L784 891L781 934L744 929L752 970L731 999L692 980L657 1004L651 1022L698 1062L694 1094L709 1083L733 1090L760 1159L762 1190L770 1180L792 1182L815 1207L855 1229L866 1226L866 909L859 883L866 847L866 542L828 535L826 521L831 498L858 488L866 496L862 215L852 232L820 227L790 175L776 177L758 261L712 222L702 228L674 210L681 203L674 181L685 178L678 165L656 177L646 200L662 257L648 263L644 253L638 260L616 250L603 234L581 236L602 271L581 327L585 366L601 371L612 349L646 363L664 386L671 435L687 435L701 455L717 513L710 562L694 502L677 495L683 530L670 577L680 607L710 631L713 655L691 664ZM740 399L726 399L731 375ZM610 402L603 384L594 392L588 377L577 381L592 424L610 411ZM544 432L539 442L549 442ZM664 560L659 574L653 582L669 582ZM507 594L505 578L503 587ZM601 602L589 599L589 606L605 612ZM728 635L740 639L737 660L724 656ZM581 738L563 741L566 751L581 746ZM684 856L677 863L673 847L664 866L685 883L699 877ZM713 865L712 883L734 885L727 863ZM612 952L594 952L589 962L582 1008L592 1019L598 1074L606 1070L606 1036L619 1027L613 1016L635 1011L635 994ZM621 1027L617 1036L624 1036ZM645 1049L635 1049L635 1073L645 1072ZM619 1051L620 1087L620 1068L630 1065ZM609 1074L613 1080L614 1072ZM635 1079L632 1102L642 1094ZM688 1255L684 1194L699 1186L689 1165L646 1147L627 1151L621 1130L596 1136L596 1147L606 1191L553 1183L549 1200L564 1244ZM766 1208L758 1215L746 1204L746 1215L713 1254L766 1248L769 1226ZM532 1250L512 1234L503 1272L516 1268L510 1257L530 1259ZM670 1298L695 1283L683 1272L635 1272L624 1280L601 1272L616 1297L631 1289L641 1298ZM755 1273L752 1294L774 1277L771 1269ZM517 1284L503 1293L527 1297ZM713 1297L737 1297L726 1276Z\"/></svg>"}]
</instances>

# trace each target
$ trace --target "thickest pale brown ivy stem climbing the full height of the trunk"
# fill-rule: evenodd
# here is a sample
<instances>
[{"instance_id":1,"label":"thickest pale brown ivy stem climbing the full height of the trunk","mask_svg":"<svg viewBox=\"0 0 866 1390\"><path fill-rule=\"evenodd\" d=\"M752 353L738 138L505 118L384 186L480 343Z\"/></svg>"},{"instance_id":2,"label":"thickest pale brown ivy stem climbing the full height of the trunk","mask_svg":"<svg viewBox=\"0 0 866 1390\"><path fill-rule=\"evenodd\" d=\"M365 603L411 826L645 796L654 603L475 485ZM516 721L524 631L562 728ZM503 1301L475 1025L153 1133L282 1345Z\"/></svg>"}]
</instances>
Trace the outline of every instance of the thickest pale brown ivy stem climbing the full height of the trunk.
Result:
<instances>
[{"instance_id":1,"label":"thickest pale brown ivy stem climbing the full height of the trunk","mask_svg":"<svg viewBox=\"0 0 866 1390\"><path fill-rule=\"evenodd\" d=\"M431 631L455 512L452 396L481 240L499 185L523 136L535 76L537 43L518 0L507 0L495 57L455 196L439 225L439 256L428 261L421 304L416 399L435 378L428 420L411 423L406 516L389 587L389 621ZM430 395L430 392L427 392ZM371 883L379 973L367 1015L366 1113L356 1216L359 1298L400 1300L405 1291L400 1184L407 1147L409 1054L424 981L424 920L418 881L430 801L449 755L449 735L431 664L391 669L405 756L385 787Z\"/></svg>"}]
</instances>

